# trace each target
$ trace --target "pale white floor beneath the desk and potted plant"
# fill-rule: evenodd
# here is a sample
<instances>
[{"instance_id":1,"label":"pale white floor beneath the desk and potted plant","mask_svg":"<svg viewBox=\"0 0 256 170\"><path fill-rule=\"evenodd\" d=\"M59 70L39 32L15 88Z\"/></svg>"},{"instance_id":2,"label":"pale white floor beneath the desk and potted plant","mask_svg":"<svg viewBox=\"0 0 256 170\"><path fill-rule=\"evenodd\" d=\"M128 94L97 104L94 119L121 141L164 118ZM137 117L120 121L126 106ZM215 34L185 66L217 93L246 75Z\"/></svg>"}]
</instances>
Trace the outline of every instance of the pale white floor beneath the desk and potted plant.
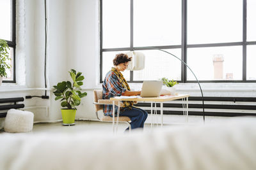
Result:
<instances>
[{"instance_id":1,"label":"pale white floor beneath the desk and potted plant","mask_svg":"<svg viewBox=\"0 0 256 170\"><path fill-rule=\"evenodd\" d=\"M228 122L228 120L232 119L232 117L205 117L205 124L214 124L220 122ZM157 118L160 121L160 118ZM153 120L156 118L153 117ZM186 119L182 115L164 115L164 127L172 127L177 125L185 125ZM145 127L143 129L144 132L151 131L151 117L148 115L147 121L145 123ZM188 125L198 125L204 124L203 117L200 116L189 116L188 117ZM160 125L154 125L154 127L160 127ZM119 124L118 125L118 133L124 133L124 130L127 128L127 124ZM74 133L74 132L113 132L113 126L111 122L97 122L97 121L84 121L84 120L76 120L76 125L73 126L63 126L61 122L56 123L38 123L34 124L33 131L29 133ZM2 132L4 133L4 132Z\"/></svg>"}]
</instances>

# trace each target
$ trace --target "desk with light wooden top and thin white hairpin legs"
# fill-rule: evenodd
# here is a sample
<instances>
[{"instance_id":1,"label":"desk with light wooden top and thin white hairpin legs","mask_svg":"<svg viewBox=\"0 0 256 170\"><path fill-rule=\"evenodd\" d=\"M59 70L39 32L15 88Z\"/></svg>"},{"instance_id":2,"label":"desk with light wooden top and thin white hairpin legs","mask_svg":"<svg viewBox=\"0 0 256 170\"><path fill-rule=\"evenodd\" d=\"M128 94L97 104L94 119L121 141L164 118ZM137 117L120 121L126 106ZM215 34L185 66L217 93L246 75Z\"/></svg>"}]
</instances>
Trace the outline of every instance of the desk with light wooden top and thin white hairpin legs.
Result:
<instances>
[{"instance_id":1,"label":"desk with light wooden top and thin white hairpin legs","mask_svg":"<svg viewBox=\"0 0 256 170\"><path fill-rule=\"evenodd\" d=\"M151 127L152 127L153 102L160 103L161 127L163 127L163 103L166 101L174 101L177 99L182 99L182 101L184 101L184 99L185 99L186 103L184 103L184 104L182 103L182 106L183 106L184 116L186 116L186 122L188 122L188 97L189 97L189 94L179 94L177 96L160 96L160 97L129 97L129 96L111 97L110 100L113 101L113 108L115 108L115 101L118 101L116 127L115 127L115 109L113 109L113 131L115 132L115 129L117 131L121 101L149 101L149 102L151 102Z\"/></svg>"}]
</instances>

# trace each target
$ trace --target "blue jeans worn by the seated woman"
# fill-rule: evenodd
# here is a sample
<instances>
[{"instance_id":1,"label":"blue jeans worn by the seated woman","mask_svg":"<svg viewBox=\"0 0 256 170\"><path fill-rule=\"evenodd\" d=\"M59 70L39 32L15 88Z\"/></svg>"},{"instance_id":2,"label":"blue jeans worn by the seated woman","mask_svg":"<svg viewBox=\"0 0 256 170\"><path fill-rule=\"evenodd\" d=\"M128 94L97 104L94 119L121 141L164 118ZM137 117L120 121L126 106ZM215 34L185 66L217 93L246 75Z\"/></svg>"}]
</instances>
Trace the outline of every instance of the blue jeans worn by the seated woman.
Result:
<instances>
[{"instance_id":1,"label":"blue jeans worn by the seated woman","mask_svg":"<svg viewBox=\"0 0 256 170\"><path fill-rule=\"evenodd\" d=\"M138 127L144 127L144 122L148 117L148 113L141 108L132 107L131 110L129 110L128 108L125 109L125 111L120 113L120 116L129 117L131 119L131 129L135 129ZM127 128L126 130L129 130L129 128Z\"/></svg>"}]
</instances>

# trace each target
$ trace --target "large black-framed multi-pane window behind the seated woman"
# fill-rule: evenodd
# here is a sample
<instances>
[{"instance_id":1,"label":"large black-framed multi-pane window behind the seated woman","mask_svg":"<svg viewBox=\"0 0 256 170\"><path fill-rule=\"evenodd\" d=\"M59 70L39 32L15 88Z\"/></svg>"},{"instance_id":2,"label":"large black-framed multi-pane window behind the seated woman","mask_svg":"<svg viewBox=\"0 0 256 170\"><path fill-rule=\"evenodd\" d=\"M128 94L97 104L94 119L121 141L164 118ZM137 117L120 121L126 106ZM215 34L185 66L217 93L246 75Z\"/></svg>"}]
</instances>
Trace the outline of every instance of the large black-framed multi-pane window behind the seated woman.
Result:
<instances>
[{"instance_id":1,"label":"large black-framed multi-pane window behind the seated woman","mask_svg":"<svg viewBox=\"0 0 256 170\"><path fill-rule=\"evenodd\" d=\"M140 50L145 69L129 82L166 77L195 82L256 81L255 0L111 0L101 3L100 81L116 53ZM115 5L114 5L115 4Z\"/></svg>"}]
</instances>

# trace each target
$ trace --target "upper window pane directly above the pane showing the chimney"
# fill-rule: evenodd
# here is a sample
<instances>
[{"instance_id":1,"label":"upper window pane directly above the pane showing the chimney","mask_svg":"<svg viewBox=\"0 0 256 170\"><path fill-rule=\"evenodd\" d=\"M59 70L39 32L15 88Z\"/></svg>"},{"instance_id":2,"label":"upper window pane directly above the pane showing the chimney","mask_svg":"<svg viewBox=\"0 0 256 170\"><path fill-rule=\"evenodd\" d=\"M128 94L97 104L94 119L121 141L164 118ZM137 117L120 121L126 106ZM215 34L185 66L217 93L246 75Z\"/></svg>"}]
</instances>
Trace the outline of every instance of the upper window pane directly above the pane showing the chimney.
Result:
<instances>
[{"instance_id":1,"label":"upper window pane directly above the pane showing the chimney","mask_svg":"<svg viewBox=\"0 0 256 170\"><path fill-rule=\"evenodd\" d=\"M188 44L243 40L243 0L188 1Z\"/></svg>"}]
</instances>

